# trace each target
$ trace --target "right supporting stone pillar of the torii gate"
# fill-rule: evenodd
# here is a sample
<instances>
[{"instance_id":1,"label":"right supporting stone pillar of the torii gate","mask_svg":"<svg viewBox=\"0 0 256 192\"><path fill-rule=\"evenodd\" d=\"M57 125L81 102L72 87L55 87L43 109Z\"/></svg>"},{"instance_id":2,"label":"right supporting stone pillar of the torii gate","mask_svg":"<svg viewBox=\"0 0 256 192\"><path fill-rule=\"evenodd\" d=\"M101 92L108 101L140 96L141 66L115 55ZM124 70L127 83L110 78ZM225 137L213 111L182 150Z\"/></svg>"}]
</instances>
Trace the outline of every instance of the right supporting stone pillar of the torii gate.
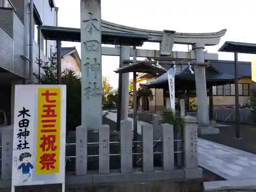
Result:
<instances>
[{"instance_id":1,"label":"right supporting stone pillar of the torii gate","mask_svg":"<svg viewBox=\"0 0 256 192\"><path fill-rule=\"evenodd\" d=\"M197 62L204 62L204 47L205 45L202 43L196 43L193 45L193 50L196 52ZM204 66L195 67L195 79L197 89L197 111L199 127L209 127L206 77Z\"/></svg>"}]
</instances>

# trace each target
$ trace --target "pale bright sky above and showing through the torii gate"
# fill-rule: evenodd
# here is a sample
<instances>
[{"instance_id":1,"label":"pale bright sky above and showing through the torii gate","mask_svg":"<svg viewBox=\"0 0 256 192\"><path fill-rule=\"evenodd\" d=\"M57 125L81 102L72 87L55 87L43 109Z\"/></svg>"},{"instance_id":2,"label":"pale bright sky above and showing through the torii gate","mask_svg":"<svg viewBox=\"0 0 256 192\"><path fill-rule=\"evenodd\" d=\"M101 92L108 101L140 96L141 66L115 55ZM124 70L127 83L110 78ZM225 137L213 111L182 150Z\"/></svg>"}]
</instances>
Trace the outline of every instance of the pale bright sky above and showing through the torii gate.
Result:
<instances>
[{"instance_id":1,"label":"pale bright sky above and showing through the torii gate","mask_svg":"<svg viewBox=\"0 0 256 192\"><path fill-rule=\"evenodd\" d=\"M58 26L80 28L80 0L55 0L59 7ZM71 4L72 2L72 4ZM108 22L148 30L175 30L181 33L218 32L227 29L217 46L205 47L218 53L225 41L256 43L256 1L253 0L101 0L101 18ZM62 42L62 47L80 43ZM142 49L159 50L159 44L145 42ZM173 51L187 51L187 45L174 45ZM238 54L239 61L251 61L255 55ZM233 53L219 52L220 60L233 60ZM118 56L102 56L102 76L118 86ZM130 76L131 77L131 76Z\"/></svg>"}]
</instances>

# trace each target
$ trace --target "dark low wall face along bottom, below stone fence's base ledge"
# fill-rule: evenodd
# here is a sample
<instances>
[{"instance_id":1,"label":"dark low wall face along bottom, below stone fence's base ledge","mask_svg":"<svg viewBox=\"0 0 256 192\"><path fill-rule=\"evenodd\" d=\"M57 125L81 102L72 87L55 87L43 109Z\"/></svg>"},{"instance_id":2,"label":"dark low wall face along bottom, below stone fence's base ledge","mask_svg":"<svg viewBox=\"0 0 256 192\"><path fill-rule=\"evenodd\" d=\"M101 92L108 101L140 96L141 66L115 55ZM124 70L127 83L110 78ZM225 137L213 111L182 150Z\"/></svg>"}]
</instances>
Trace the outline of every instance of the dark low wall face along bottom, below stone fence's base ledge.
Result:
<instances>
[{"instance_id":1,"label":"dark low wall face along bottom, below stone fence's base ledge","mask_svg":"<svg viewBox=\"0 0 256 192\"><path fill-rule=\"evenodd\" d=\"M61 186L56 185L44 185L44 186L24 186L24 187L16 187L17 191L29 192L29 191L38 191L38 189L42 189L45 192L53 192L53 191L61 191ZM15 190L15 191L16 191ZM1 192L9 192L10 188L3 188ZM203 191L202 181L200 179L194 179L189 181L153 181L153 182L133 182L133 183L109 183L104 185L70 185L66 184L67 192L167 192L167 191L175 191L175 192L199 192Z\"/></svg>"}]
</instances>

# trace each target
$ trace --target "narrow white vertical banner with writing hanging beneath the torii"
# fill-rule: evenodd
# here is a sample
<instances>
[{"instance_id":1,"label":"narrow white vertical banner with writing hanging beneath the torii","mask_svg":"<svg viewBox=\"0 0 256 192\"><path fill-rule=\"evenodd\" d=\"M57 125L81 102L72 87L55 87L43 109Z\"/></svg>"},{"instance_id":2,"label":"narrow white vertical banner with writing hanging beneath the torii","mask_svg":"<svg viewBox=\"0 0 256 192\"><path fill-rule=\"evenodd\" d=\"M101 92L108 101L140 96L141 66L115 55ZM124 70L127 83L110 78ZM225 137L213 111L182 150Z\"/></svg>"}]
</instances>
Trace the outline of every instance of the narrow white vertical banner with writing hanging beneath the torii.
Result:
<instances>
[{"instance_id":1,"label":"narrow white vertical banner with writing hanging beneath the torii","mask_svg":"<svg viewBox=\"0 0 256 192\"><path fill-rule=\"evenodd\" d=\"M175 70L174 68L170 68L167 71L168 75L168 86L169 86L169 94L170 94L170 109L175 111Z\"/></svg>"}]
</instances>

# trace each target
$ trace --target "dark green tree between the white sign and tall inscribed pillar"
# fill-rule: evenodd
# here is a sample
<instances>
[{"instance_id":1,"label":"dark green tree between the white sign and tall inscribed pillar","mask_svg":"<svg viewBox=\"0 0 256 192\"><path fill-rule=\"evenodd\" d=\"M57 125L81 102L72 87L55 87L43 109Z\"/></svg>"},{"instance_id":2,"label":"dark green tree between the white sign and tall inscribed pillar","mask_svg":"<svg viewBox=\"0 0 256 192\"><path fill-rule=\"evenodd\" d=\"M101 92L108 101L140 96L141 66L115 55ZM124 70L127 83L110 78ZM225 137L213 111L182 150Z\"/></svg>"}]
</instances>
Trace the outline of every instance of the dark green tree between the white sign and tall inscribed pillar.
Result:
<instances>
[{"instance_id":1,"label":"dark green tree between the white sign and tall inscribed pillar","mask_svg":"<svg viewBox=\"0 0 256 192\"><path fill-rule=\"evenodd\" d=\"M36 58L37 59L37 58ZM34 73L39 84L57 84L56 54L48 62L37 59L40 66L40 75ZM66 69L61 74L62 84L67 86L67 134L81 124L81 82L72 69Z\"/></svg>"}]
</instances>

